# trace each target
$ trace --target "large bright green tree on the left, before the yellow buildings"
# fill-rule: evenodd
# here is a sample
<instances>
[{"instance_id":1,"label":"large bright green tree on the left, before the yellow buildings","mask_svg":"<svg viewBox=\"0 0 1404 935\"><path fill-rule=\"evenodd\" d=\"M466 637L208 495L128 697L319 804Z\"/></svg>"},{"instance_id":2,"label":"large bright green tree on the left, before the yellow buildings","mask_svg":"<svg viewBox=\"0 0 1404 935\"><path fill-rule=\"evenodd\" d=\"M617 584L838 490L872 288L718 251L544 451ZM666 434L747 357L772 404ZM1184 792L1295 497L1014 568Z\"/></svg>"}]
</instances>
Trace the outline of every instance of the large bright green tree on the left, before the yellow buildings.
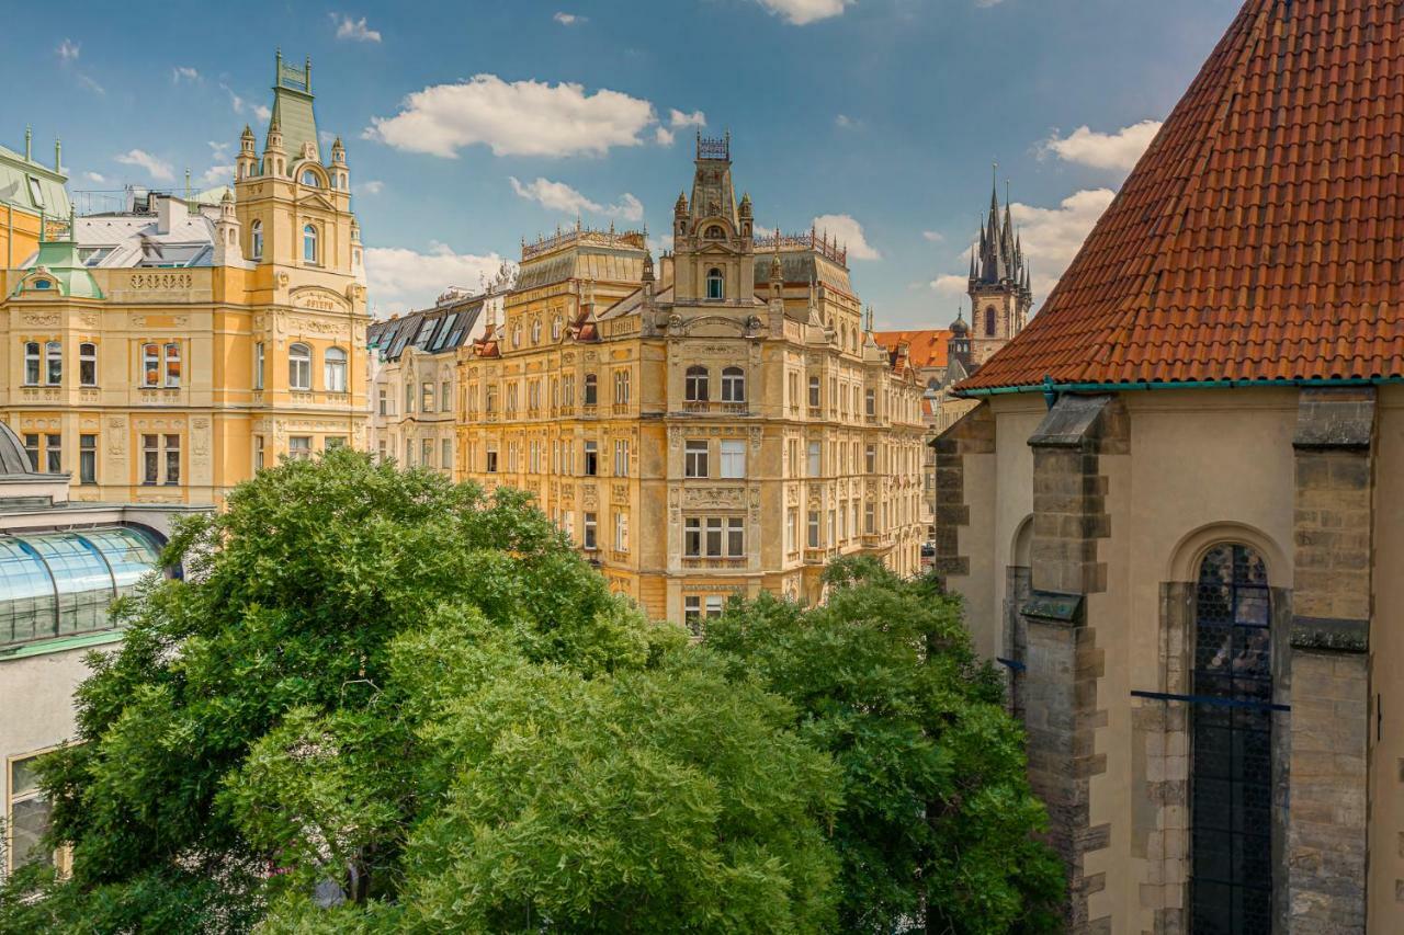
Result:
<instances>
[{"instance_id":1,"label":"large bright green tree on the left, before the yellow buildings","mask_svg":"<svg viewBox=\"0 0 1404 935\"><path fill-rule=\"evenodd\" d=\"M72 879L14 875L0 932L834 918L833 761L524 496L340 451L261 472L164 560L185 580L121 608L83 743L41 768Z\"/></svg>"}]
</instances>

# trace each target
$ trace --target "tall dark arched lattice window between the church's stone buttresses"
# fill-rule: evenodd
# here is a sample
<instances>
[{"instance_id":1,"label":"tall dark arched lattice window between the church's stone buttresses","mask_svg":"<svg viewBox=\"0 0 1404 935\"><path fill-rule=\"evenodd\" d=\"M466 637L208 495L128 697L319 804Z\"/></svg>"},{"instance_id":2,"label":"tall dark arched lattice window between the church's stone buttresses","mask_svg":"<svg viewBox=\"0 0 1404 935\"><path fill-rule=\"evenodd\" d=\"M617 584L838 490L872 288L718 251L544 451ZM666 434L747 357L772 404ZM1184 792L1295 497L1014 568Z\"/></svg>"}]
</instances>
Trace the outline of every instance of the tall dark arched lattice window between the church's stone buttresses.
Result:
<instances>
[{"instance_id":1,"label":"tall dark arched lattice window between the church's stone buttresses","mask_svg":"<svg viewBox=\"0 0 1404 935\"><path fill-rule=\"evenodd\" d=\"M1214 546L1199 567L1191 705L1196 931L1272 929L1272 614L1257 552Z\"/></svg>"}]
</instances>

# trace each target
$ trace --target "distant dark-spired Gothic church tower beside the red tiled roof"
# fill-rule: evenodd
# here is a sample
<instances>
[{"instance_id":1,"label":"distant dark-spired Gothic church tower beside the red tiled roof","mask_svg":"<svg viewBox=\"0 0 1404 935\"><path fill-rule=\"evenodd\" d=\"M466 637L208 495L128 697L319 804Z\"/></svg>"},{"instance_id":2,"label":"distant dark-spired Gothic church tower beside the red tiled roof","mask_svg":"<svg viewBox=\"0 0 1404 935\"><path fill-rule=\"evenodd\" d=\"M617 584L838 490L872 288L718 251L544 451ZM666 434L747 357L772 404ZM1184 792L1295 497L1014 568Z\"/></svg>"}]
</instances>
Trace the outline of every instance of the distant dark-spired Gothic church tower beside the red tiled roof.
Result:
<instances>
[{"instance_id":1,"label":"distant dark-spired Gothic church tower beside the red tiled roof","mask_svg":"<svg viewBox=\"0 0 1404 935\"><path fill-rule=\"evenodd\" d=\"M970 361L980 366L1024 330L1033 306L1032 278L1014 229L1009 199L1000 211L998 183L990 216L970 251Z\"/></svg>"}]
</instances>

